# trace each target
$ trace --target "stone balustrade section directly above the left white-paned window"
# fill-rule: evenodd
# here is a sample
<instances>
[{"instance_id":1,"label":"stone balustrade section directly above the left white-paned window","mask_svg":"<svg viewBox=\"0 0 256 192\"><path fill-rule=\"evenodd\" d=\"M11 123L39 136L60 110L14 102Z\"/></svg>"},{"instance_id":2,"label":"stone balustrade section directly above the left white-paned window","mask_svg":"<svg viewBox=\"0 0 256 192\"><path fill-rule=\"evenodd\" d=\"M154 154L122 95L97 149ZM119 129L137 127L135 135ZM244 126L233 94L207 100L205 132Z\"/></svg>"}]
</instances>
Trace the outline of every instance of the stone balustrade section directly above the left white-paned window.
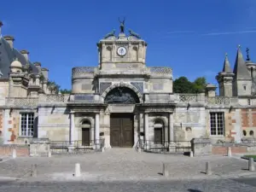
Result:
<instances>
[{"instance_id":1,"label":"stone balustrade section directly above the left white-paned window","mask_svg":"<svg viewBox=\"0 0 256 192\"><path fill-rule=\"evenodd\" d=\"M6 105L16 108L36 108L38 106L38 98L7 98Z\"/></svg>"}]
</instances>

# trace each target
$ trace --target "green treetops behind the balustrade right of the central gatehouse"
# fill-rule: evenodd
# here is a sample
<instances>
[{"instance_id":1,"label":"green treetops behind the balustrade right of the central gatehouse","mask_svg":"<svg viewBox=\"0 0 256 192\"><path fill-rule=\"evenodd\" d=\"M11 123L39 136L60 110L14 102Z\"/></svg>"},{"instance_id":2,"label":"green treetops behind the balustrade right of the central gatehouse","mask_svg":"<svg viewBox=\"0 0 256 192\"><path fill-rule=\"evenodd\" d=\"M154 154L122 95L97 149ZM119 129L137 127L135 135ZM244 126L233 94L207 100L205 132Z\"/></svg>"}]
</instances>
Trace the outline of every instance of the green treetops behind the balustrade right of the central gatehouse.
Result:
<instances>
[{"instance_id":1,"label":"green treetops behind the balustrade right of the central gatehouse","mask_svg":"<svg viewBox=\"0 0 256 192\"><path fill-rule=\"evenodd\" d=\"M206 90L207 79L200 77L190 82L186 77L180 77L173 81L174 93L202 93Z\"/></svg>"}]
</instances>

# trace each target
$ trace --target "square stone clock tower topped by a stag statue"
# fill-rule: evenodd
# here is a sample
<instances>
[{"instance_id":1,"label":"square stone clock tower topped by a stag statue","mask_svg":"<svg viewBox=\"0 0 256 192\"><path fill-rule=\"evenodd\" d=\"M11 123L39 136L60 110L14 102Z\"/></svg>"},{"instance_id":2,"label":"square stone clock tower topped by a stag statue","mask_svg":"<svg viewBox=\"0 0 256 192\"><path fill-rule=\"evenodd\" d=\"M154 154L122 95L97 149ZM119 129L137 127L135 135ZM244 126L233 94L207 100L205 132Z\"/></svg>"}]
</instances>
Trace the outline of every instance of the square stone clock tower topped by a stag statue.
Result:
<instances>
[{"instance_id":1,"label":"square stone clock tower topped by a stag statue","mask_svg":"<svg viewBox=\"0 0 256 192\"><path fill-rule=\"evenodd\" d=\"M125 20L120 21L120 32L109 32L97 44L99 67L103 71L137 70L145 67L147 44L131 30L125 34Z\"/></svg>"}]
</instances>

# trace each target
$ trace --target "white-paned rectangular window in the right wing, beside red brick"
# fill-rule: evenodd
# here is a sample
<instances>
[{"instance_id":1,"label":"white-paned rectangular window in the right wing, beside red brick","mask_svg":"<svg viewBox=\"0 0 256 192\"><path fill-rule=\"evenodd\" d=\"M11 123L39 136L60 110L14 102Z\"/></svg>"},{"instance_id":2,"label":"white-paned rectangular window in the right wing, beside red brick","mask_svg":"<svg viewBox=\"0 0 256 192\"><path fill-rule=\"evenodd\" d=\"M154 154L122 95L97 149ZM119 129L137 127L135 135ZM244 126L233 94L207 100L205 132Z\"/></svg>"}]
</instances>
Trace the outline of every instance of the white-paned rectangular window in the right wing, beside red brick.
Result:
<instances>
[{"instance_id":1,"label":"white-paned rectangular window in the right wing, beside red brick","mask_svg":"<svg viewBox=\"0 0 256 192\"><path fill-rule=\"evenodd\" d=\"M210 113L211 135L224 136L224 113Z\"/></svg>"}]
</instances>

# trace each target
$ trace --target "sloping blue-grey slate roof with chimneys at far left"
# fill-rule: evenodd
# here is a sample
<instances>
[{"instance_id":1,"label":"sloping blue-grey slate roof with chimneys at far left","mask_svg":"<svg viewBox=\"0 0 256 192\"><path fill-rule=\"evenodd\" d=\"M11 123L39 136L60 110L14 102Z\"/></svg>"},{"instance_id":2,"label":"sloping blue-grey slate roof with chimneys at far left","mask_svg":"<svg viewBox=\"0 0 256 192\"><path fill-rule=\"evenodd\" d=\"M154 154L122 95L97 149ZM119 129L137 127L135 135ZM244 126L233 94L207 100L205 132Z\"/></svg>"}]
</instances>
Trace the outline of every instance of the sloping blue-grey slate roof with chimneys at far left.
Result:
<instances>
[{"instance_id":1,"label":"sloping blue-grey slate roof with chimneys at far left","mask_svg":"<svg viewBox=\"0 0 256 192\"><path fill-rule=\"evenodd\" d=\"M0 38L0 72L3 74L1 78L9 77L9 67L12 61L18 58L22 66L27 64L26 58L17 49L12 49L4 38ZM28 61L31 73L38 74L38 68L31 61Z\"/></svg>"}]
</instances>

